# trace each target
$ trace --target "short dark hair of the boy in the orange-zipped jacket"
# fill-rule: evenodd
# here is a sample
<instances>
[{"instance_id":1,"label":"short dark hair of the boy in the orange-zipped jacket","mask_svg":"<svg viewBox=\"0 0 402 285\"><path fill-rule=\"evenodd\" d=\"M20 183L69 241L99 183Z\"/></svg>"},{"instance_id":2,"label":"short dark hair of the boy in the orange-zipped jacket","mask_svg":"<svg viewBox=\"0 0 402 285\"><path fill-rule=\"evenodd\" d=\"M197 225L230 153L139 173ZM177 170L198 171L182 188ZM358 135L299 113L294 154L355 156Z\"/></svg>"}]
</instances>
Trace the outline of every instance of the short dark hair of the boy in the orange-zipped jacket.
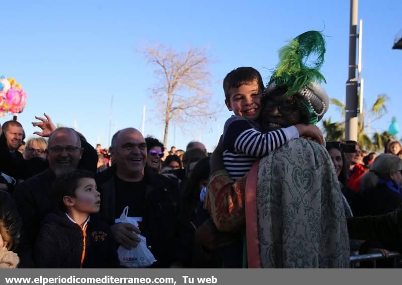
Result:
<instances>
[{"instance_id":1,"label":"short dark hair of the boy in the orange-zipped jacket","mask_svg":"<svg viewBox=\"0 0 402 285\"><path fill-rule=\"evenodd\" d=\"M52 185L52 193L54 196L55 201L59 205L60 209L63 211L67 210L66 205L64 204L63 197L75 196L75 190L78 187L78 180L81 178L92 178L94 176L91 172L86 170L74 170L67 174L60 175L56 178L56 181Z\"/></svg>"}]
</instances>

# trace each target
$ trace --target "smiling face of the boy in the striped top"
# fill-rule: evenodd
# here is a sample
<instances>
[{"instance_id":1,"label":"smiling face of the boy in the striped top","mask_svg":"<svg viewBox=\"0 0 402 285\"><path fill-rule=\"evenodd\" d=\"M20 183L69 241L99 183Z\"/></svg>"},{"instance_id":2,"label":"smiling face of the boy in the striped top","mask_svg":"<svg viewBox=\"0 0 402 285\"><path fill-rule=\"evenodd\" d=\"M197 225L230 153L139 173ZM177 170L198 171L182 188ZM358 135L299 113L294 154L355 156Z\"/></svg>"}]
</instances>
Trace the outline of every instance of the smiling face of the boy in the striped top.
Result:
<instances>
[{"instance_id":1,"label":"smiling face of the boy in the striped top","mask_svg":"<svg viewBox=\"0 0 402 285\"><path fill-rule=\"evenodd\" d=\"M230 99L226 99L225 104L235 115L255 121L261 113L261 97L262 92L255 81L231 88Z\"/></svg>"}]
</instances>

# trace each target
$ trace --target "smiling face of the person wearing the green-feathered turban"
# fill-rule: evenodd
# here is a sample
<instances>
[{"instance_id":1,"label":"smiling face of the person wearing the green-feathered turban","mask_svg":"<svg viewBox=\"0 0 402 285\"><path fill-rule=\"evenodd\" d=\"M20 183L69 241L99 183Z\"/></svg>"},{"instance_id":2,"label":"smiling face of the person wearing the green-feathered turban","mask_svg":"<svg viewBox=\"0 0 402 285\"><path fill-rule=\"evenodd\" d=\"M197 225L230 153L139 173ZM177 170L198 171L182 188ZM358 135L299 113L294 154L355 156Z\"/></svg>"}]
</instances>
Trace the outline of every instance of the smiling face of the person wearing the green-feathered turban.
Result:
<instances>
[{"instance_id":1,"label":"smiling face of the person wearing the green-feathered turban","mask_svg":"<svg viewBox=\"0 0 402 285\"><path fill-rule=\"evenodd\" d=\"M300 123L301 118L295 98L284 98L283 94L277 94L267 98L261 115L261 126L264 132L268 132Z\"/></svg>"}]
</instances>

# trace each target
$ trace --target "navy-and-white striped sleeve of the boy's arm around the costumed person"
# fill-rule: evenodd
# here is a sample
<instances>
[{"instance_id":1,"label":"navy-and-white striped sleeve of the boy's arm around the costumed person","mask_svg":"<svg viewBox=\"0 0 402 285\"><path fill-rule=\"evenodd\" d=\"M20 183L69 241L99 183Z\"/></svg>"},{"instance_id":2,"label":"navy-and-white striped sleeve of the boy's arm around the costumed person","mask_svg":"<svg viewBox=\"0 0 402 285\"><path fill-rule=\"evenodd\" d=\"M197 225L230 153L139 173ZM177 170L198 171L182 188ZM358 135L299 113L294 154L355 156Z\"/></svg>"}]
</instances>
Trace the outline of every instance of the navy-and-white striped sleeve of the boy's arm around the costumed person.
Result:
<instances>
[{"instance_id":1,"label":"navy-and-white striped sleeve of the boy's arm around the costumed person","mask_svg":"<svg viewBox=\"0 0 402 285\"><path fill-rule=\"evenodd\" d=\"M248 120L234 120L224 135L224 149L244 153L252 157L263 157L283 146L292 138L298 138L295 126L262 133L252 127Z\"/></svg>"}]
</instances>

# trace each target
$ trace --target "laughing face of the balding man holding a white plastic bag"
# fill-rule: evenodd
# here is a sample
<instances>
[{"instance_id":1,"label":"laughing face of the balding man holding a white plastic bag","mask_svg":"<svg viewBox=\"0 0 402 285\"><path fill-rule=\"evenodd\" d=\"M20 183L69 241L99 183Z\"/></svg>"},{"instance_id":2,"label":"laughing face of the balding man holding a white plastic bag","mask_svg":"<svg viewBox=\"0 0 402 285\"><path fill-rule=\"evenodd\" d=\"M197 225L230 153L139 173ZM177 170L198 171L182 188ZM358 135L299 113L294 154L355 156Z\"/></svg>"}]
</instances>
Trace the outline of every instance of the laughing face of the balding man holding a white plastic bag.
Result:
<instances>
[{"instance_id":1,"label":"laughing face of the balding man holding a white plastic bag","mask_svg":"<svg viewBox=\"0 0 402 285\"><path fill-rule=\"evenodd\" d=\"M147 163L147 144L138 130L122 130L112 149L112 157L117 168L135 177L141 175Z\"/></svg>"}]
</instances>

